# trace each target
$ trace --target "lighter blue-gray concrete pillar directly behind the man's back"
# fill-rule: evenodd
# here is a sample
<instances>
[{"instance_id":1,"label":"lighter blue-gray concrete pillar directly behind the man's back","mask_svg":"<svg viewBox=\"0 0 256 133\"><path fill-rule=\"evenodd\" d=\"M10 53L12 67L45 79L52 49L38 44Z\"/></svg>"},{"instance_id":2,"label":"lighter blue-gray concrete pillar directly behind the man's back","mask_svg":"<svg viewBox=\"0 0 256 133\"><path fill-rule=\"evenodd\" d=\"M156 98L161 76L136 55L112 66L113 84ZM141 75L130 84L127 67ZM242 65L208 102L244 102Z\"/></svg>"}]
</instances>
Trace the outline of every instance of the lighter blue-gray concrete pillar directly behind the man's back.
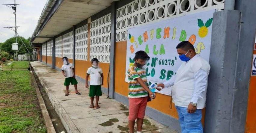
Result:
<instances>
[{"instance_id":1,"label":"lighter blue-gray concrete pillar directly behind the man's back","mask_svg":"<svg viewBox=\"0 0 256 133\"><path fill-rule=\"evenodd\" d=\"M214 13L204 132L231 133L240 12ZM234 132L232 132L234 133Z\"/></svg>"}]
</instances>

